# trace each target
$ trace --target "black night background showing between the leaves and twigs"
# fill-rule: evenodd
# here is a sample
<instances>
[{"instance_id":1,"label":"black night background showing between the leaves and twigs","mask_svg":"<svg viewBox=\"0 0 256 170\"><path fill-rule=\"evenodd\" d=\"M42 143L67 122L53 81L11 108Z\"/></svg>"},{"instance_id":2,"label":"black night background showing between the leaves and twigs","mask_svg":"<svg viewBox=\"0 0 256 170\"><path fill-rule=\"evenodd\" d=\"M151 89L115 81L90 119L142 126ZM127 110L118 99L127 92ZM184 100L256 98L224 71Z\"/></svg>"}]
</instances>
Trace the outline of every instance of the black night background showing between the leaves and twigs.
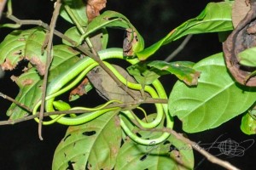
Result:
<instances>
[{"instance_id":1,"label":"black night background showing between the leaves and twigs","mask_svg":"<svg viewBox=\"0 0 256 170\"><path fill-rule=\"evenodd\" d=\"M157 42L161 37L166 36L169 31L179 26L185 20L194 18L201 13L209 1L201 0L130 0L108 1L107 8L115 10L131 20L131 23L142 34L146 47ZM217 2L217 1L215 1ZM20 19L43 20L49 23L53 10L53 2L30 0L30 1L13 1L14 14ZM1 23L6 20L2 19ZM58 20L57 30L65 31L69 25L63 20ZM22 29L27 27L22 27ZM0 41L9 32L9 29L0 30ZM111 30L110 46L121 47L124 38L124 31ZM55 40L59 42L59 40ZM172 42L161 48L159 52L154 54L152 59L165 59L175 50L182 42ZM195 35L189 41L189 44L180 54L177 54L175 60L198 61L211 54L222 51L222 44L218 42L217 34ZM19 72L19 71L18 71ZM4 79L0 79L0 91L15 98L18 88L9 77L12 74L7 72ZM175 77L162 77L161 81L165 84L167 94L172 90L172 84L176 81ZM0 99L0 120L6 120L5 116L10 102ZM195 142L212 143L220 135L219 141L233 139L237 143L241 143L246 139L255 139L254 136L247 136L240 130L241 116L237 116L224 125L208 130L202 133L188 134L189 139ZM59 124L44 126L44 141L38 139L38 124L34 121L21 122L13 126L0 127L0 169L51 169L51 161L57 144L61 141L66 133L67 127ZM177 120L176 130L182 132L181 124ZM242 144L241 144L242 145ZM211 150L212 154L219 154L218 150ZM254 167L255 144L245 150L243 156L218 156L226 161L230 161L241 169L252 169ZM204 160L203 156L195 151L195 169L222 169L211 162Z\"/></svg>"}]
</instances>

